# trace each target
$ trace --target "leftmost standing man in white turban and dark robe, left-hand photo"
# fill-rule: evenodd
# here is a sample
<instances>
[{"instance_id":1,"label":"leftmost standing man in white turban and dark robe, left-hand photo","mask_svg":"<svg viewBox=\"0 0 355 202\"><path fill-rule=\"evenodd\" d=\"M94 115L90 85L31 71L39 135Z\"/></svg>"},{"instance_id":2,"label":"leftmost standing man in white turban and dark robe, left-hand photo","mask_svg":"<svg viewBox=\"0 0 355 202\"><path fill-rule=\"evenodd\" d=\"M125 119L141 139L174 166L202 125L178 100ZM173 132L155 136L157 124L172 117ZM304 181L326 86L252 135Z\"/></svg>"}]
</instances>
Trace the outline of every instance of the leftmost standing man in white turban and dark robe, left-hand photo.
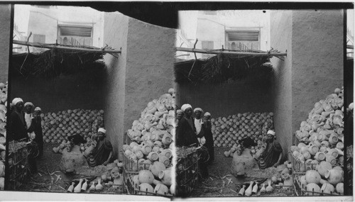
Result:
<instances>
[{"instance_id":1,"label":"leftmost standing man in white turban and dark robe, left-hand photo","mask_svg":"<svg viewBox=\"0 0 355 202\"><path fill-rule=\"evenodd\" d=\"M25 114L23 113L23 100L20 98L13 99L14 109L10 114L9 121L9 139L10 140L28 140L27 125Z\"/></svg>"}]
</instances>

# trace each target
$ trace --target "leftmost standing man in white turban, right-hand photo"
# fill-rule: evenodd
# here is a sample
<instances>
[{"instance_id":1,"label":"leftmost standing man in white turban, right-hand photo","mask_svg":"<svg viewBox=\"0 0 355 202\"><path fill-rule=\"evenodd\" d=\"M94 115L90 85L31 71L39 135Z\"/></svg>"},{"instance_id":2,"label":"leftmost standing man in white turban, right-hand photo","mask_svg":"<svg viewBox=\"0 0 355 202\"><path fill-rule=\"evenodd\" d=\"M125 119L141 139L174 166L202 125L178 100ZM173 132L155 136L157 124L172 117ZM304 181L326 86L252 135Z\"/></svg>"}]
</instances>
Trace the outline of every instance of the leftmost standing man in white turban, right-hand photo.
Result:
<instances>
[{"instance_id":1,"label":"leftmost standing man in white turban, right-hand photo","mask_svg":"<svg viewBox=\"0 0 355 202\"><path fill-rule=\"evenodd\" d=\"M176 128L176 145L178 147L197 147L199 142L196 137L195 120L192 118L192 106L185 103L181 106L185 116L179 121L179 127Z\"/></svg>"}]
</instances>

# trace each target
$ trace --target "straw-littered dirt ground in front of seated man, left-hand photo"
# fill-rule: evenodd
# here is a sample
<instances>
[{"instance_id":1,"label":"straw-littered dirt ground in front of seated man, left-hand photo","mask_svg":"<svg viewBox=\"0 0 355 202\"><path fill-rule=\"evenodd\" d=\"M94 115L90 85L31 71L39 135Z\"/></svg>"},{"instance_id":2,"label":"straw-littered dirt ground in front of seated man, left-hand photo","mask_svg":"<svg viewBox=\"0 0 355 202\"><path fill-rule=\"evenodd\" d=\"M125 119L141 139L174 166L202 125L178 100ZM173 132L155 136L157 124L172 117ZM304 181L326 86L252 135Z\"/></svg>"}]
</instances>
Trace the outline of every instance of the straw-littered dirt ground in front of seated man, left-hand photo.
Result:
<instances>
[{"instance_id":1,"label":"straw-littered dirt ground in front of seated man, left-hand photo","mask_svg":"<svg viewBox=\"0 0 355 202\"><path fill-rule=\"evenodd\" d=\"M59 153L55 154L52 150L53 147L57 147L58 145L51 143L44 144L43 157L37 159L38 173L28 176L28 181L22 184L16 191L67 192L71 181L77 181L80 178L94 178L94 176L84 176L82 174L68 175L60 172L59 162L62 155ZM103 191L94 191L94 193L122 194L123 191L122 187L113 189L111 186L105 186Z\"/></svg>"}]
</instances>

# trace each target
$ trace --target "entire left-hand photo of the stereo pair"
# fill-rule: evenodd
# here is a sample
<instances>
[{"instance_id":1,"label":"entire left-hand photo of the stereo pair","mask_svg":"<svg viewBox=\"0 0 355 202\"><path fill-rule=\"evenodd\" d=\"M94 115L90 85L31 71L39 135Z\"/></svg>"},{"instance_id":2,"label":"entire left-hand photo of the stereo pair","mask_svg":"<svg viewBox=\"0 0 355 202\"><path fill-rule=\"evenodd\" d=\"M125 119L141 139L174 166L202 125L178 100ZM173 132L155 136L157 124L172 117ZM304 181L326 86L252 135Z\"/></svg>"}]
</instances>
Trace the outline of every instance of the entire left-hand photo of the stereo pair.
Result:
<instances>
[{"instance_id":1,"label":"entire left-hand photo of the stereo pair","mask_svg":"<svg viewBox=\"0 0 355 202\"><path fill-rule=\"evenodd\" d=\"M172 197L176 30L16 4L11 33L0 9L1 189Z\"/></svg>"}]
</instances>

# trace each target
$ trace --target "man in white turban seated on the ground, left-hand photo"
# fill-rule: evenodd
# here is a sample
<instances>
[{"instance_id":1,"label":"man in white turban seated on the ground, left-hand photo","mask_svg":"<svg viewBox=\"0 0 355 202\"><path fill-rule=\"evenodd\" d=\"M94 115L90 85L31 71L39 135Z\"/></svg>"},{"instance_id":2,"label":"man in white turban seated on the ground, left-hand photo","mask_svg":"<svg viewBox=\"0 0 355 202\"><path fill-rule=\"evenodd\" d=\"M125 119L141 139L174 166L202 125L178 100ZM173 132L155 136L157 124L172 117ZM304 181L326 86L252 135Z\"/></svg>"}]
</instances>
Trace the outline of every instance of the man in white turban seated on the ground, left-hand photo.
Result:
<instances>
[{"instance_id":1,"label":"man in white turban seated on the ground, left-hand photo","mask_svg":"<svg viewBox=\"0 0 355 202\"><path fill-rule=\"evenodd\" d=\"M97 145L89 154L88 164L90 167L107 165L114 154L111 142L106 138L106 130L99 128L97 132Z\"/></svg>"}]
</instances>

